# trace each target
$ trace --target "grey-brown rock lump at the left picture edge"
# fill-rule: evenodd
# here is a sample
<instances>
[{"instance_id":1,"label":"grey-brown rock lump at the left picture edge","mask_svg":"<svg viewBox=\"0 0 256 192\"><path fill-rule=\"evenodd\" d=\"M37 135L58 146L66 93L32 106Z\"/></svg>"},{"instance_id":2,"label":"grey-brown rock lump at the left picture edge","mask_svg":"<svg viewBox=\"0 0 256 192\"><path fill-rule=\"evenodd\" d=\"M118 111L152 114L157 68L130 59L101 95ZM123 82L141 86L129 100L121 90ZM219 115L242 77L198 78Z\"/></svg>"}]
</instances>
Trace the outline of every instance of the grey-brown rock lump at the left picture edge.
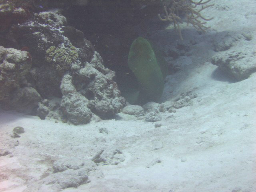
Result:
<instances>
[{"instance_id":1,"label":"grey-brown rock lump at the left picture edge","mask_svg":"<svg viewBox=\"0 0 256 192\"><path fill-rule=\"evenodd\" d=\"M30 86L26 75L31 70L31 56L26 51L0 46L0 105L6 110L33 114L41 96Z\"/></svg>"}]
</instances>

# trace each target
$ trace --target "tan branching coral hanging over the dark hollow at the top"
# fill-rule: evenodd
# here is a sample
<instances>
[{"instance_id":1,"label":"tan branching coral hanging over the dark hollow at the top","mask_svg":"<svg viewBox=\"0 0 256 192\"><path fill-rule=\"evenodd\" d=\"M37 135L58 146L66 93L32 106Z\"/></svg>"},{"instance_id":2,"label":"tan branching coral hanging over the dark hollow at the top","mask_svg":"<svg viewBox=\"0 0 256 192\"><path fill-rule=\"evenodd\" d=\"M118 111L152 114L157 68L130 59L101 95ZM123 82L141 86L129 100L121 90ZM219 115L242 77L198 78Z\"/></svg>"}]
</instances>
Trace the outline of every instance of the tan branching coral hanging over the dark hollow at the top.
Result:
<instances>
[{"instance_id":1,"label":"tan branching coral hanging over the dark hollow at the top","mask_svg":"<svg viewBox=\"0 0 256 192\"><path fill-rule=\"evenodd\" d=\"M178 31L179 36L181 39L182 34L180 31L180 25L179 22L182 22L182 19L180 18L180 14L184 14L186 17L187 24L192 24L194 28L197 30L200 30L202 32L205 32L208 27L204 26L206 22L202 22L200 19L209 21L213 18L205 18L201 15L201 11L205 8L208 8L210 6L213 6L214 4L206 5L211 0L206 0L203 2L203 0L200 0L199 2L194 2L192 0L171 0L170 8L167 10L166 6L164 6L164 12L165 16L162 18L160 14L158 14L158 17L162 21L171 21L174 23L174 28L176 31ZM197 6L201 6L200 9L197 9Z\"/></svg>"}]
</instances>

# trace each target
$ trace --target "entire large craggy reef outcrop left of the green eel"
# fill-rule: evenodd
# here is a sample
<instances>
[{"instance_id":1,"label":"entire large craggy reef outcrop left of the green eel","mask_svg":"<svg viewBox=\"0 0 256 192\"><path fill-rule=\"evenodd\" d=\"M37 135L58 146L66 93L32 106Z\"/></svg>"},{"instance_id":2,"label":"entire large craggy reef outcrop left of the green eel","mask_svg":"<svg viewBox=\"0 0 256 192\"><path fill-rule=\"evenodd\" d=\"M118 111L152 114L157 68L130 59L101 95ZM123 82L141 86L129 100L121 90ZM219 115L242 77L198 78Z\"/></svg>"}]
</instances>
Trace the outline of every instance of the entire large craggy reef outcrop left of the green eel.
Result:
<instances>
[{"instance_id":1,"label":"entire large craggy reef outcrop left of the green eel","mask_svg":"<svg viewBox=\"0 0 256 192\"><path fill-rule=\"evenodd\" d=\"M125 106L114 72L83 33L66 24L58 11L40 12L10 28L8 35L26 51L0 47L2 108L85 124Z\"/></svg>"}]
</instances>

